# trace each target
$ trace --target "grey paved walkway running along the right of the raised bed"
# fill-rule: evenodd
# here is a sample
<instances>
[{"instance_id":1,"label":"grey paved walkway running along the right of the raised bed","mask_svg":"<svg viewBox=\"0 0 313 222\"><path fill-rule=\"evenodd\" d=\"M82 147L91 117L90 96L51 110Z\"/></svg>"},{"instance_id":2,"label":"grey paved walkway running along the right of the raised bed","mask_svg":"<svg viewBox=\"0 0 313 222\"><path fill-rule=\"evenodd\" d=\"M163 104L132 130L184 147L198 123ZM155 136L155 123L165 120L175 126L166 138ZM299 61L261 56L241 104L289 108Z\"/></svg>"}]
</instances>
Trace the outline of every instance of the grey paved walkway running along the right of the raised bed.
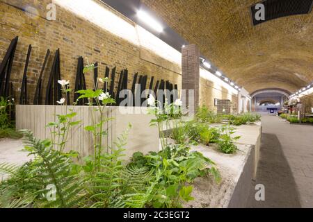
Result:
<instances>
[{"instance_id":1,"label":"grey paved walkway running along the right of the raised bed","mask_svg":"<svg viewBox=\"0 0 313 222\"><path fill-rule=\"evenodd\" d=\"M265 201L255 200L256 184L265 186ZM313 207L313 126L262 116L262 146L252 186L247 207Z\"/></svg>"}]
</instances>

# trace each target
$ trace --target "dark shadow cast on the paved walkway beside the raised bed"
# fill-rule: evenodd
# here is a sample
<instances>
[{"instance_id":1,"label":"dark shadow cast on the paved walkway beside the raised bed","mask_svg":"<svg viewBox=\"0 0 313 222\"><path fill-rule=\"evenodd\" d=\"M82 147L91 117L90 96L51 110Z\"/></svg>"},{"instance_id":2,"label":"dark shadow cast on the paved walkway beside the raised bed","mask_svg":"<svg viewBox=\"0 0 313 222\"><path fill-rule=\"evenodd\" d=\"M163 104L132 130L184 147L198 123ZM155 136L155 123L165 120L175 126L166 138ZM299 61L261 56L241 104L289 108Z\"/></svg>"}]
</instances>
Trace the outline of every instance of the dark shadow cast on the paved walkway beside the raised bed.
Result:
<instances>
[{"instance_id":1,"label":"dark shadow cast on the paved walkway beside the raised bed","mask_svg":"<svg viewBox=\"0 0 313 222\"><path fill-rule=\"evenodd\" d=\"M255 200L255 185L265 187L265 201ZM298 189L276 135L262 133L257 180L252 182L247 207L301 207Z\"/></svg>"}]
</instances>

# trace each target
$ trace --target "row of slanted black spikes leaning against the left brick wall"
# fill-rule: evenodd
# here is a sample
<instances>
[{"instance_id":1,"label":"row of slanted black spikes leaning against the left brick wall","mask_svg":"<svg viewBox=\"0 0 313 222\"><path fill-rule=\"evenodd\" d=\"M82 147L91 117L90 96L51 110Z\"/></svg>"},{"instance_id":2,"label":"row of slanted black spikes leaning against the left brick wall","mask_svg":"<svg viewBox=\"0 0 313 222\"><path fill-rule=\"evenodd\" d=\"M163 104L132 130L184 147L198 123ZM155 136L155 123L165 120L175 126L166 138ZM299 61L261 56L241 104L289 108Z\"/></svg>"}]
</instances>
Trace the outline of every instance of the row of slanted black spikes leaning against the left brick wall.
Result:
<instances>
[{"instance_id":1,"label":"row of slanted black spikes leaning against the left brick wall","mask_svg":"<svg viewBox=\"0 0 313 222\"><path fill-rule=\"evenodd\" d=\"M8 48L8 51L6 52L6 56L3 58L1 65L0 65L0 96L3 96L5 98L14 98L13 95L13 84L10 82L10 74L12 70L13 65L13 59L15 55L15 50L17 46L18 37L15 37ZM26 62L24 66L24 73L22 78L22 87L21 87L21 93L19 96L19 104L26 105L29 104L28 101L28 92L27 92L27 69L29 66L29 60L31 57L31 45L29 45L29 49L26 56ZM40 71L40 76L38 78L38 83L35 88L35 96L33 99L34 105L41 105L42 104L42 76L45 71L45 67L47 66L47 61L49 60L50 51L47 50L45 60L42 64L42 69ZM78 58L78 64L77 64L77 74L76 74L76 80L75 80L75 87L74 92L77 92L81 89L86 89L86 79L85 75L83 74L83 58ZM120 98L119 94L123 89L128 88L128 70L122 69L120 72L120 76L118 79L118 85L116 87L115 92L115 77L116 77L116 67L114 67L111 71L111 78L110 78L110 69L109 67L106 67L106 71L104 74L104 77L109 78L110 83L104 84L104 92L109 92L113 99L116 101L116 105L120 105L122 99ZM95 63L95 69L94 69L94 83L97 84L97 78L98 78L98 63ZM47 83L47 89L46 89L46 96L45 96L45 105L58 105L57 101L59 101L62 98L62 91L61 91L61 85L58 84L58 80L61 79L61 69L60 69L60 49L58 49L55 53L54 60L52 63L51 71L49 74L49 80ZM136 87L140 85L140 90L137 90ZM154 86L154 87L153 87ZM134 95L134 101L133 104L135 104L135 93L140 96L142 92L147 89L147 75L138 76L138 73L134 75L133 83L131 85L131 92ZM172 91L172 89L177 89L177 85L172 85L169 81L165 80L157 80L157 83L154 85L154 76L152 76L150 80L150 86L149 89L154 92L155 95L157 95L158 90L165 90L169 89ZM129 95L128 95L129 96ZM74 101L77 101L79 97L79 94L74 94ZM177 90L175 91L175 94L170 97L170 102L172 103L175 101L175 99L178 98ZM145 101L145 97L141 98L141 104L143 101ZM164 96L163 96L164 101ZM86 105L88 103L87 99L81 99L78 101L77 105ZM70 105L70 94L67 92L67 105ZM135 104L138 105L138 104Z\"/></svg>"}]
</instances>

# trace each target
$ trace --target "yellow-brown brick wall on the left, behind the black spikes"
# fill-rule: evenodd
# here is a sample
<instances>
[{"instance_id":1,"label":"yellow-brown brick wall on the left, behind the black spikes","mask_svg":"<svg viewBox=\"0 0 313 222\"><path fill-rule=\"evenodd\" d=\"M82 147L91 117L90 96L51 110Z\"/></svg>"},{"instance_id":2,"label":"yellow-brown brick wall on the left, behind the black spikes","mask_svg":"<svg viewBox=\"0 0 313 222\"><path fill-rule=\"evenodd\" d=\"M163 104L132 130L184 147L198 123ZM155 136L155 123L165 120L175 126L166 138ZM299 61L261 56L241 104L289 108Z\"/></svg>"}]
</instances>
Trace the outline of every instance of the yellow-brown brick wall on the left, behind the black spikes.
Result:
<instances>
[{"instance_id":1,"label":"yellow-brown brick wall on the left, behind the black spikes","mask_svg":"<svg viewBox=\"0 0 313 222\"><path fill-rule=\"evenodd\" d=\"M127 68L129 70L129 88L136 72L148 76L147 85L150 83L150 77L154 76L154 83L161 79L170 80L180 88L181 67L177 63L166 60L141 45L138 46L122 37L113 35L60 6L56 8L56 21L49 21L45 17L46 6L49 3L51 1L48 0L4 0L0 2L0 60L3 59L10 41L19 35L11 73L16 99L19 97L22 85L29 44L33 46L27 73L29 103L33 102L35 86L47 49L50 49L51 55L44 72L43 99L45 99L45 87L54 53L58 48L61 51L61 78L70 80L71 87L74 87L77 59L79 56L83 56L83 58L88 58L89 62L99 63L99 76L104 77L106 66L110 69L116 66L117 77L122 69ZM36 8L39 16L27 15L22 10L27 5ZM102 3L99 5L132 24L131 21L106 5ZM132 25L135 26L135 24ZM115 76L116 81L118 81L117 77ZM93 76L86 76L87 87L93 87L92 81ZM116 85L117 83L115 83Z\"/></svg>"}]
</instances>

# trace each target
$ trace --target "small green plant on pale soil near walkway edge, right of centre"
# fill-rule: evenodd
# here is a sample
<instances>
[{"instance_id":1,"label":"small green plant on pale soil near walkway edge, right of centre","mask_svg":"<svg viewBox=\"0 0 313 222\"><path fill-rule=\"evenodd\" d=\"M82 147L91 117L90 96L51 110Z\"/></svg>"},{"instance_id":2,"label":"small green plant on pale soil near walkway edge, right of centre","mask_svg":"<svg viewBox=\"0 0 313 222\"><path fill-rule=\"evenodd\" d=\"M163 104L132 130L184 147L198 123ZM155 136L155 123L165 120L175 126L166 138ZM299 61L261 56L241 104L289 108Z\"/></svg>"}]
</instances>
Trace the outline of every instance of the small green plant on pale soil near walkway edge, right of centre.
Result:
<instances>
[{"instance_id":1,"label":"small green plant on pale soil near walkway edge, right of centre","mask_svg":"<svg viewBox=\"0 0 313 222\"><path fill-rule=\"evenodd\" d=\"M218 148L220 151L226 154L235 153L236 152L236 145L234 144L234 141L237 139L240 139L240 136L236 136L232 138L232 135L235 132L234 128L230 126L230 123L223 126L221 128L222 135L220 135L220 139L218 141Z\"/></svg>"}]
</instances>

